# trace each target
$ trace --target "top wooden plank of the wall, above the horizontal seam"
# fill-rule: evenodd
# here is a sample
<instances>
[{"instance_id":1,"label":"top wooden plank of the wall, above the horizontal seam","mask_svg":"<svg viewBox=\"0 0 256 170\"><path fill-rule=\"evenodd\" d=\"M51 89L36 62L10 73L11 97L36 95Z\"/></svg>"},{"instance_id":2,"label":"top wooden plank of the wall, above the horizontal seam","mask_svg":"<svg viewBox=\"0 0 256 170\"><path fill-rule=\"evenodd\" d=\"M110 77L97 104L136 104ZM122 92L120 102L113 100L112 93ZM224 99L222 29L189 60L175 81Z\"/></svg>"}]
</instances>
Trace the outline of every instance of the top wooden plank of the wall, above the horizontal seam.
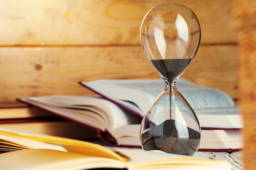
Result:
<instances>
[{"instance_id":1,"label":"top wooden plank of the wall, above the horizontal seam","mask_svg":"<svg viewBox=\"0 0 256 170\"><path fill-rule=\"evenodd\" d=\"M0 46L140 44L144 15L162 3L195 12L202 44L237 42L232 0L0 0Z\"/></svg>"}]
</instances>

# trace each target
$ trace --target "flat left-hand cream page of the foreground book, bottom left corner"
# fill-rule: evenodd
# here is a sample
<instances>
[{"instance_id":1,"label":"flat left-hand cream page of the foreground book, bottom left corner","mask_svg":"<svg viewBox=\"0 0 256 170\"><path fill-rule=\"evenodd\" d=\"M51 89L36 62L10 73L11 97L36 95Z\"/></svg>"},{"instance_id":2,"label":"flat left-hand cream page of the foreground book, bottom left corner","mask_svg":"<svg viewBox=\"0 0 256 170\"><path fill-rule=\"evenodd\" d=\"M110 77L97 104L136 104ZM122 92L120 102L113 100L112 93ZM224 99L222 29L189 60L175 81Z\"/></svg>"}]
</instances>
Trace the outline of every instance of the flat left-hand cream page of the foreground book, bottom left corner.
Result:
<instances>
[{"instance_id":1,"label":"flat left-hand cream page of the foreground book, bottom left corner","mask_svg":"<svg viewBox=\"0 0 256 170\"><path fill-rule=\"evenodd\" d=\"M0 165L4 170L82 170L125 168L126 166L117 159L50 149L27 149L2 153Z\"/></svg>"}]
</instances>

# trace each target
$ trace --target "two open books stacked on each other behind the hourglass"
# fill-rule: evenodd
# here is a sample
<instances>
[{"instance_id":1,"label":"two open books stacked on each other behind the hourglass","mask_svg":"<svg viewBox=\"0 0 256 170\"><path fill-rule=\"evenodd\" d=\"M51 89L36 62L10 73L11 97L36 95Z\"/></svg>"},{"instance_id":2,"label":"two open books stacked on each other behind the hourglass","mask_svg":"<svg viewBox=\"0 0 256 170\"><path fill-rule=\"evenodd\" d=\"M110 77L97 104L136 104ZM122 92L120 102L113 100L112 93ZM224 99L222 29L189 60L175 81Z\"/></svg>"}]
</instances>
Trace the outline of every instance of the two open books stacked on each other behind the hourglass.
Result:
<instances>
[{"instance_id":1,"label":"two open books stacked on each other behind the hourglass","mask_svg":"<svg viewBox=\"0 0 256 170\"><path fill-rule=\"evenodd\" d=\"M97 132L113 146L141 147L142 117L163 90L162 79L99 79L79 82L95 96L42 96L17 99ZM233 152L243 148L239 107L222 91L179 79L177 88L194 109L200 126L199 151Z\"/></svg>"}]
</instances>

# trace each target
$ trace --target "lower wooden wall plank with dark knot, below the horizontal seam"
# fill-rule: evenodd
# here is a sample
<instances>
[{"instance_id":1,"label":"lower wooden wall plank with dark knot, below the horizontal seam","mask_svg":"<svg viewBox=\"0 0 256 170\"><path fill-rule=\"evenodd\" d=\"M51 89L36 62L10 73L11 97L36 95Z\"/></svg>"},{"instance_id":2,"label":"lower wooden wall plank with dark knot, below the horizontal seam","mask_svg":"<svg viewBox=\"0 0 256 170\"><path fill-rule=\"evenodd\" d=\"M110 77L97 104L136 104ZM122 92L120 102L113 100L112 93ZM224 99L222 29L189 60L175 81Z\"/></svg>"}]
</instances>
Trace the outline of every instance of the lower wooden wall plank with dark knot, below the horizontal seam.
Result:
<instances>
[{"instance_id":1,"label":"lower wooden wall plank with dark knot, below the horizontal seam","mask_svg":"<svg viewBox=\"0 0 256 170\"><path fill-rule=\"evenodd\" d=\"M200 46L182 77L238 98L237 69L236 46ZM0 102L92 94L77 82L139 78L160 78L140 45L0 48Z\"/></svg>"}]
</instances>

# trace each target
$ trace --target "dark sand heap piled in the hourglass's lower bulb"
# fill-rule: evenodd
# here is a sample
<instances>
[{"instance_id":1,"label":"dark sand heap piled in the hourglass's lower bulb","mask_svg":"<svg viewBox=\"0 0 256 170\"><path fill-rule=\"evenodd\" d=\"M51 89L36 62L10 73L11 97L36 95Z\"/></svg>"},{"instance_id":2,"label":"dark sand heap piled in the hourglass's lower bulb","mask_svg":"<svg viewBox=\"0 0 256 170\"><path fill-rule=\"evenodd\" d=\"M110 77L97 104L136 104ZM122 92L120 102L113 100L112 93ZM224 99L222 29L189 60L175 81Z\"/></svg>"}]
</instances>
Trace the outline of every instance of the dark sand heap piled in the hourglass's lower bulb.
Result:
<instances>
[{"instance_id":1,"label":"dark sand heap piled in the hourglass's lower bulb","mask_svg":"<svg viewBox=\"0 0 256 170\"><path fill-rule=\"evenodd\" d=\"M182 127L183 126L183 127ZM187 128L188 138L178 137L176 127ZM162 150L167 153L179 155L194 155L200 144L200 132L168 119L162 124L141 134L144 150Z\"/></svg>"}]
</instances>

